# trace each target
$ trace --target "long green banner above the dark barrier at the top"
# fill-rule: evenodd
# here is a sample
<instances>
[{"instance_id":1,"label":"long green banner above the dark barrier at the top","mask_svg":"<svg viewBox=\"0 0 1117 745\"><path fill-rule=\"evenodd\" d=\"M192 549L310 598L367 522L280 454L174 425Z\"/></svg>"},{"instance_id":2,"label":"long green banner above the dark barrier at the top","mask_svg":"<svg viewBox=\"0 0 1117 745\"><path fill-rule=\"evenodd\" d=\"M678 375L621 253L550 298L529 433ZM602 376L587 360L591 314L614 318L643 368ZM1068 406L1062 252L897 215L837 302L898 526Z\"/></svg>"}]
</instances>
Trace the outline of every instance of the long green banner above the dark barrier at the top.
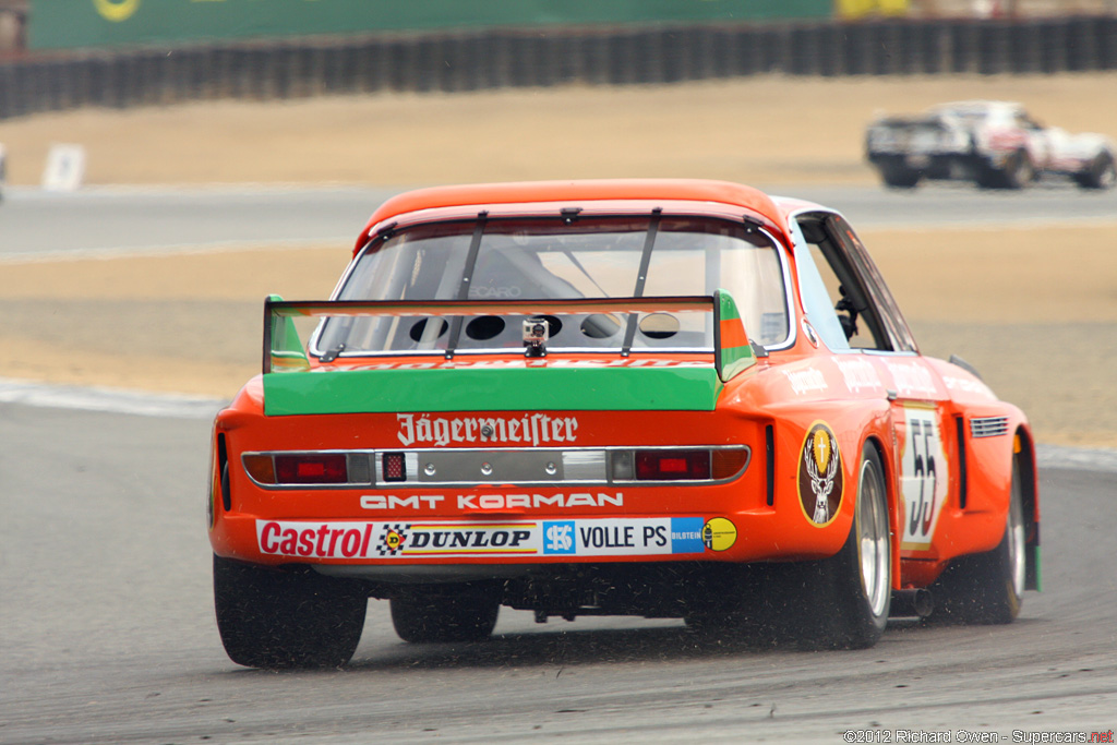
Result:
<instances>
[{"instance_id":1,"label":"long green banner above the dark barrier at the top","mask_svg":"<svg viewBox=\"0 0 1117 745\"><path fill-rule=\"evenodd\" d=\"M32 49L317 34L830 18L833 0L30 0Z\"/></svg>"}]
</instances>

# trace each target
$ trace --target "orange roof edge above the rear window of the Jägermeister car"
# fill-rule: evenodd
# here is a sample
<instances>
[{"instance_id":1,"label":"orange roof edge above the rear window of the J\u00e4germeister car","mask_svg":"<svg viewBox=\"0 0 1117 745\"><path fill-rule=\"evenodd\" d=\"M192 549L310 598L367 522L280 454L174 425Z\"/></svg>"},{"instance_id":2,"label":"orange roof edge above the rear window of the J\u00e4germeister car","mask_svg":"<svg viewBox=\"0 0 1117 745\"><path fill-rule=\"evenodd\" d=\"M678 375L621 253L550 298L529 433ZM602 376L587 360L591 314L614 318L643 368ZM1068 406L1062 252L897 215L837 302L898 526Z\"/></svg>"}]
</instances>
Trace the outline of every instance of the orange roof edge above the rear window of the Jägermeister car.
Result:
<instances>
[{"instance_id":1,"label":"orange roof edge above the rear window of the J\u00e4germeister car","mask_svg":"<svg viewBox=\"0 0 1117 745\"><path fill-rule=\"evenodd\" d=\"M369 219L357 237L356 250L367 241L378 226L395 218L423 210L532 203L579 202L656 202L669 209L672 202L707 202L713 206L743 208L764 219L768 227L783 235L785 211L764 192L729 181L705 179L608 179L584 181L525 181L481 183L456 187L433 187L409 191L389 199Z\"/></svg>"}]
</instances>

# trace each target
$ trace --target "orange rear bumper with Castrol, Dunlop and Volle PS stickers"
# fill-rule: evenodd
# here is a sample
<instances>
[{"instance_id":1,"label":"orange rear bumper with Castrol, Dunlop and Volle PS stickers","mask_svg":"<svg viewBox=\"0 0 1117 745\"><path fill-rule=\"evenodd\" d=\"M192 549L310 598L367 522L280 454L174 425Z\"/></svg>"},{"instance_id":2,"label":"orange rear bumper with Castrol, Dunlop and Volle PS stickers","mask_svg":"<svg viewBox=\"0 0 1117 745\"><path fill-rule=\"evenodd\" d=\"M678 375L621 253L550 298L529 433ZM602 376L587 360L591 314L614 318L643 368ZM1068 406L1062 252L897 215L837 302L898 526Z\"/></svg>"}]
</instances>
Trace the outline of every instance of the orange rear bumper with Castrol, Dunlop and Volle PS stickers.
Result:
<instances>
[{"instance_id":1,"label":"orange rear bumper with Castrol, Dunlop and Volle PS stickers","mask_svg":"<svg viewBox=\"0 0 1117 745\"><path fill-rule=\"evenodd\" d=\"M798 514L798 503L784 507L669 516L429 519L267 519L225 514L210 541L219 555L256 564L298 563L330 574L391 579L478 572L510 576L519 572L516 567L570 563L822 558L833 555L849 534L852 518L844 510L819 527Z\"/></svg>"}]
</instances>

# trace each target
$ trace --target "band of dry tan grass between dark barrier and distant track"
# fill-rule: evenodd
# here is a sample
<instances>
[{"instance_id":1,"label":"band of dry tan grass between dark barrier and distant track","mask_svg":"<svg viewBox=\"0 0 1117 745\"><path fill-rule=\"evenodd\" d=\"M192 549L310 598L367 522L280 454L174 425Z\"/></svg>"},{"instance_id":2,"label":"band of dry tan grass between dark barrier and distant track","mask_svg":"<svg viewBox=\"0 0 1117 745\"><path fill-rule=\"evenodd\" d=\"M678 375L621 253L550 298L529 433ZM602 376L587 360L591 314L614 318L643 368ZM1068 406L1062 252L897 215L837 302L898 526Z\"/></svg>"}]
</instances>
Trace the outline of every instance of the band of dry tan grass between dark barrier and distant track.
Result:
<instances>
[{"instance_id":1,"label":"band of dry tan grass between dark barrier and distant track","mask_svg":"<svg viewBox=\"0 0 1117 745\"><path fill-rule=\"evenodd\" d=\"M958 98L1024 102L1117 139L1117 73L795 78L86 109L0 122L9 179L80 143L87 181L384 185L609 176L868 183L866 123Z\"/></svg>"}]
</instances>

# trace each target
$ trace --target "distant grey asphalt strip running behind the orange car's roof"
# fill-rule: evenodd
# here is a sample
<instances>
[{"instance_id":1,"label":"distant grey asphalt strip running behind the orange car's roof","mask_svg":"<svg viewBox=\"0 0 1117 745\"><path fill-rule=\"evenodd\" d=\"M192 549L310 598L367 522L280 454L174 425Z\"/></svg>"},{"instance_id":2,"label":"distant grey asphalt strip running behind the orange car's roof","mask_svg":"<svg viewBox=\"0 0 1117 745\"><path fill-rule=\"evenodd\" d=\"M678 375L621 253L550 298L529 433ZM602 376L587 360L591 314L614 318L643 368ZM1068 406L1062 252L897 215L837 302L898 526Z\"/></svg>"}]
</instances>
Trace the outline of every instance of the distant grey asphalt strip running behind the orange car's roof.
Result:
<instances>
[{"instance_id":1,"label":"distant grey asphalt strip running behind the orange car's roof","mask_svg":"<svg viewBox=\"0 0 1117 745\"><path fill-rule=\"evenodd\" d=\"M47 193L11 189L0 204L0 262L78 254L199 250L278 242L347 242L373 209L402 189L99 189ZM862 228L1051 225L1117 221L1117 190L1083 192L1060 182L1023 192L935 184L772 187L839 209Z\"/></svg>"}]
</instances>

